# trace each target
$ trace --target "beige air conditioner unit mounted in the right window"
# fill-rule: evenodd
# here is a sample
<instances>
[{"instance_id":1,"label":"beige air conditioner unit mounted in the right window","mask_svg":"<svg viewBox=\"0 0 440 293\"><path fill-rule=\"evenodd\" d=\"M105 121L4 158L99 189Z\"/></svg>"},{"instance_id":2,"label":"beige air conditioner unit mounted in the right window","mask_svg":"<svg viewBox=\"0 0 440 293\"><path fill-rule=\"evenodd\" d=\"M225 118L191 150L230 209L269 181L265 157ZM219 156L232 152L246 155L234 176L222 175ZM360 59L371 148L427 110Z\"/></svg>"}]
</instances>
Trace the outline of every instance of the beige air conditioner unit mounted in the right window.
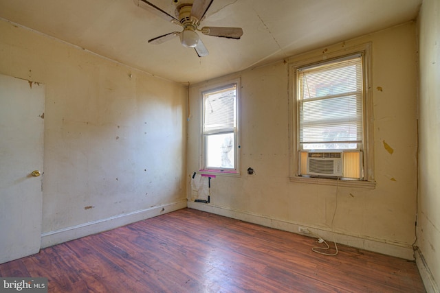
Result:
<instances>
[{"instance_id":1,"label":"beige air conditioner unit mounted in the right window","mask_svg":"<svg viewBox=\"0 0 440 293\"><path fill-rule=\"evenodd\" d=\"M342 176L342 152L307 153L307 174Z\"/></svg>"}]
</instances>

